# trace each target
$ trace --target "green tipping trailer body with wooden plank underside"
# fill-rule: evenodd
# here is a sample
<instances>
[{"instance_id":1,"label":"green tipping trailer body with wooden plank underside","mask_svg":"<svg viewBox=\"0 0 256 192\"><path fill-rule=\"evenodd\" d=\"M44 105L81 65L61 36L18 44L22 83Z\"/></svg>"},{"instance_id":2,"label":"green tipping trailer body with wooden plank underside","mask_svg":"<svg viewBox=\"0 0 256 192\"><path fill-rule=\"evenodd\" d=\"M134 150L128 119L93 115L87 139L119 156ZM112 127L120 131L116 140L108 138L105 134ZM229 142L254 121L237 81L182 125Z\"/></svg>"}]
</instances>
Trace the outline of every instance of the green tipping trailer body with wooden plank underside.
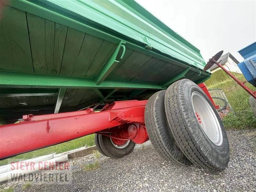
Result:
<instances>
[{"instance_id":1,"label":"green tipping trailer body with wooden plank underside","mask_svg":"<svg viewBox=\"0 0 256 192\"><path fill-rule=\"evenodd\" d=\"M135 1L12 0L0 16L0 119L199 84L200 51Z\"/></svg>"}]
</instances>

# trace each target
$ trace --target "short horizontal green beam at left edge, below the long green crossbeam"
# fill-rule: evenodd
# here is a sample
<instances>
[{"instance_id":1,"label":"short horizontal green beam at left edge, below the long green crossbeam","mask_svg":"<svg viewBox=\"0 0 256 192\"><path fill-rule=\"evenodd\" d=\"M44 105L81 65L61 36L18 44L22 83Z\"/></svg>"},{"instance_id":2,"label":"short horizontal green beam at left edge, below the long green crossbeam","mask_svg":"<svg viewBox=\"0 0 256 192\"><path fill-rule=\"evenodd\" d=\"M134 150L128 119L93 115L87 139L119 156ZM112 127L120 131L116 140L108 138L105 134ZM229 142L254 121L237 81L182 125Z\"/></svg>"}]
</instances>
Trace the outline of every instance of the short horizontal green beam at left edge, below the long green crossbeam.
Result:
<instances>
[{"instance_id":1,"label":"short horizontal green beam at left edge, below the long green crossbeam","mask_svg":"<svg viewBox=\"0 0 256 192\"><path fill-rule=\"evenodd\" d=\"M56 90L1 90L0 97L28 97L57 95Z\"/></svg>"}]
</instances>

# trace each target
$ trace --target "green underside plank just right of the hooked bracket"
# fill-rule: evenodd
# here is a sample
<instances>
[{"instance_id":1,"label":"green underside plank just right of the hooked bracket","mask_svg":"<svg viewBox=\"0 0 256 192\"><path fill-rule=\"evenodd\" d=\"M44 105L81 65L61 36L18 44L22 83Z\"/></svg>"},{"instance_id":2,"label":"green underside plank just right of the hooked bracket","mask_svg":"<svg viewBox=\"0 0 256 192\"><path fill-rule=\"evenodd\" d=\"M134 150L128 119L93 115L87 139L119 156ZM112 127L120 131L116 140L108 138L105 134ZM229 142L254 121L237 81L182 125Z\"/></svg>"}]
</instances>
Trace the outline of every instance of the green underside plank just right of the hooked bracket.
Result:
<instances>
[{"instance_id":1,"label":"green underside plank just right of the hooked bracket","mask_svg":"<svg viewBox=\"0 0 256 192\"><path fill-rule=\"evenodd\" d=\"M115 79L126 79L152 57L141 52L134 51L115 71Z\"/></svg>"}]
</instances>

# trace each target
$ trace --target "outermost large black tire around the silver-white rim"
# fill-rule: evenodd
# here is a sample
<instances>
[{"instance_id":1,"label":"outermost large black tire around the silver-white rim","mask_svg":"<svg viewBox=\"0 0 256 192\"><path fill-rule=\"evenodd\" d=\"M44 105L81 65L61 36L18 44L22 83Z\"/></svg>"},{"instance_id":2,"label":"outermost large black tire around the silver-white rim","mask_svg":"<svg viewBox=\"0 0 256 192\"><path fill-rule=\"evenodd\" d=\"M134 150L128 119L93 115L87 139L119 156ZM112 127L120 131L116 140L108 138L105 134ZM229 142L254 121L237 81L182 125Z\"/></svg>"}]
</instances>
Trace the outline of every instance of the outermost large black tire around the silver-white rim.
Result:
<instances>
[{"instance_id":1,"label":"outermost large black tire around the silver-white rim","mask_svg":"<svg viewBox=\"0 0 256 192\"><path fill-rule=\"evenodd\" d=\"M201 128L193 110L191 95L200 93L210 104L222 132L222 144L209 140ZM207 95L194 82L182 79L165 92L165 113L172 135L185 156L194 164L212 170L225 169L229 162L229 145L226 131Z\"/></svg>"}]
</instances>

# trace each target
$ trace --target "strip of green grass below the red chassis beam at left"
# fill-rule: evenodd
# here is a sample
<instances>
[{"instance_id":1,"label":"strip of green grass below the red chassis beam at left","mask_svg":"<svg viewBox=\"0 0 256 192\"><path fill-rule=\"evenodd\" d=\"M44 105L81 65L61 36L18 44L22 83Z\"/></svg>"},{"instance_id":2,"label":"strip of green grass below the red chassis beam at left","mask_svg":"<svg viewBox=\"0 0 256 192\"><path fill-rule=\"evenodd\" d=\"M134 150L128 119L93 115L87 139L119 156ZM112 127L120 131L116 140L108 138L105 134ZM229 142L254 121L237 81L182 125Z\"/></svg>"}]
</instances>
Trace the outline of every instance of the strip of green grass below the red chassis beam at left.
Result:
<instances>
[{"instance_id":1,"label":"strip of green grass below the red chassis beam at left","mask_svg":"<svg viewBox=\"0 0 256 192\"><path fill-rule=\"evenodd\" d=\"M66 151L70 151L76 148L84 147L84 146L93 146L95 145L94 143L94 134L92 135L87 135L78 139L74 139L65 143L60 143L58 145L54 145L51 147L46 147L43 149L38 149L35 151L31 151L28 153L24 153L21 155L17 155L15 157L12 157L10 159L21 159L21 160L26 160L26 159L31 159L35 158L38 156L44 156L52 153L63 153ZM8 159L4 159L0 161L0 166L8 164Z\"/></svg>"}]
</instances>

